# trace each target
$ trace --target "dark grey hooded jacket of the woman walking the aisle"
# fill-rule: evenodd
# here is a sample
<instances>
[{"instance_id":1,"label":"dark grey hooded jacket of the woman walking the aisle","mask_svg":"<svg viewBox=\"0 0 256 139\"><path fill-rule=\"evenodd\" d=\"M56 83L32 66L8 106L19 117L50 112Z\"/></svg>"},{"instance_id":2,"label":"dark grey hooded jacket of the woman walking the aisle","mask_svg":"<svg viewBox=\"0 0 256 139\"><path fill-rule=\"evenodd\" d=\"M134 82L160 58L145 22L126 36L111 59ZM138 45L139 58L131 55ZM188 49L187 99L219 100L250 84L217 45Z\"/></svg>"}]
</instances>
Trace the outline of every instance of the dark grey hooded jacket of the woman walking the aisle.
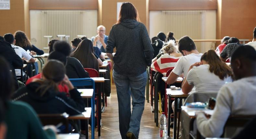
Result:
<instances>
[{"instance_id":1,"label":"dark grey hooded jacket of the woman walking the aisle","mask_svg":"<svg viewBox=\"0 0 256 139\"><path fill-rule=\"evenodd\" d=\"M126 76L137 76L151 65L153 48L144 24L132 19L125 19L114 25L109 34L107 53L114 55L114 70Z\"/></svg>"}]
</instances>

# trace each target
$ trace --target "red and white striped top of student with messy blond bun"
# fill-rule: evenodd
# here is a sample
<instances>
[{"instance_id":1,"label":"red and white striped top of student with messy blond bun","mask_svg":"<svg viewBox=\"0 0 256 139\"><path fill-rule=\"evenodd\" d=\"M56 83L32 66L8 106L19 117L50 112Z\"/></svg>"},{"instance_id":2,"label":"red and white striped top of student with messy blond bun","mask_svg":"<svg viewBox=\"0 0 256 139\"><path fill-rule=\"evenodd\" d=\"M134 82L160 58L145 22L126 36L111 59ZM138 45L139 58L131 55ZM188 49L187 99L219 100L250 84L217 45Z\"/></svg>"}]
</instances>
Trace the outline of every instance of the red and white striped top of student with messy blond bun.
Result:
<instances>
[{"instance_id":1,"label":"red and white striped top of student with messy blond bun","mask_svg":"<svg viewBox=\"0 0 256 139\"><path fill-rule=\"evenodd\" d=\"M156 72L162 73L164 76L166 76L166 72L172 68L175 67L176 62L180 59L180 57L173 57L169 54L162 55L159 59L154 61L151 64L151 70L154 70Z\"/></svg>"}]
</instances>

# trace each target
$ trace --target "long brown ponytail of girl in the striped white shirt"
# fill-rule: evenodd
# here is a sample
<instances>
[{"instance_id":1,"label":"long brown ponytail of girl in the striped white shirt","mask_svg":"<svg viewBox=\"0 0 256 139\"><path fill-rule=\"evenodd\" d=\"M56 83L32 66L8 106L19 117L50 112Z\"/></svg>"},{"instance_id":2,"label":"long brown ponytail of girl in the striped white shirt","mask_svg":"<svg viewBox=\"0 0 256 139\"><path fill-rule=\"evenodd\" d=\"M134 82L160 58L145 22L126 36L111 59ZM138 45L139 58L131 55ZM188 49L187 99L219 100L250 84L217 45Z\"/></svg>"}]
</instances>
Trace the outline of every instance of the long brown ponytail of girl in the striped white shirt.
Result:
<instances>
[{"instance_id":1,"label":"long brown ponytail of girl in the striped white shirt","mask_svg":"<svg viewBox=\"0 0 256 139\"><path fill-rule=\"evenodd\" d=\"M214 50L208 50L201 57L201 61L205 60L209 65L210 72L213 72L215 75L219 76L221 80L231 76L233 78L233 72L231 68L227 66L225 62L222 62Z\"/></svg>"}]
</instances>

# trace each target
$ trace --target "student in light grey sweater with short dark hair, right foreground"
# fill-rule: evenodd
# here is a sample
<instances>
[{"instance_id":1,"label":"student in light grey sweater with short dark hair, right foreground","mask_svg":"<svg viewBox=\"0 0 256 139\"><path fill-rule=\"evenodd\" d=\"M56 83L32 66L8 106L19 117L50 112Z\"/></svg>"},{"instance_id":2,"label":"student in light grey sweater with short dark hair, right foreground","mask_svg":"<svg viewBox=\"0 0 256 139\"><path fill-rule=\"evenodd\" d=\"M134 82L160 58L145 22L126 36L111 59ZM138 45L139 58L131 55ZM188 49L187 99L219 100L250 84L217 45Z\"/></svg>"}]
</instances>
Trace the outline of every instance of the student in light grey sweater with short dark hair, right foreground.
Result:
<instances>
[{"instance_id":1,"label":"student in light grey sweater with short dark hair, right foreground","mask_svg":"<svg viewBox=\"0 0 256 139\"><path fill-rule=\"evenodd\" d=\"M236 81L220 89L211 118L207 119L203 112L197 113L197 129L204 137L220 137L231 115L256 114L255 49L247 45L236 48L231 56L231 68ZM235 133L232 131L231 135Z\"/></svg>"}]
</instances>

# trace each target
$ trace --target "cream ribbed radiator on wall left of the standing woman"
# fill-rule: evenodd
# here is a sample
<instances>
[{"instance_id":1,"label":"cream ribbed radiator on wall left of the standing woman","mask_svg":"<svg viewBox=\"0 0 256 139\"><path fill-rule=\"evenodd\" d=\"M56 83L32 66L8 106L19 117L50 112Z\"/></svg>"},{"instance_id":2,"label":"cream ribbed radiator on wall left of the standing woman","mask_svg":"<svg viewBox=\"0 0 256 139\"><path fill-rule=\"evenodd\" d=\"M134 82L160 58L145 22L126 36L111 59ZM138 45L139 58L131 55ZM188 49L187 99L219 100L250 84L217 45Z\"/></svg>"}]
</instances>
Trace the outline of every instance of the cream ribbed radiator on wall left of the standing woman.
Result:
<instances>
[{"instance_id":1,"label":"cream ribbed radiator on wall left of the standing woman","mask_svg":"<svg viewBox=\"0 0 256 139\"><path fill-rule=\"evenodd\" d=\"M53 36L52 39L60 39L57 35L68 35L68 42L83 34L83 14L86 11L62 11L47 10L41 11L42 36ZM46 39L45 39L46 40ZM66 40L64 38L63 40ZM47 47L47 41L42 41L44 47Z\"/></svg>"}]
</instances>

